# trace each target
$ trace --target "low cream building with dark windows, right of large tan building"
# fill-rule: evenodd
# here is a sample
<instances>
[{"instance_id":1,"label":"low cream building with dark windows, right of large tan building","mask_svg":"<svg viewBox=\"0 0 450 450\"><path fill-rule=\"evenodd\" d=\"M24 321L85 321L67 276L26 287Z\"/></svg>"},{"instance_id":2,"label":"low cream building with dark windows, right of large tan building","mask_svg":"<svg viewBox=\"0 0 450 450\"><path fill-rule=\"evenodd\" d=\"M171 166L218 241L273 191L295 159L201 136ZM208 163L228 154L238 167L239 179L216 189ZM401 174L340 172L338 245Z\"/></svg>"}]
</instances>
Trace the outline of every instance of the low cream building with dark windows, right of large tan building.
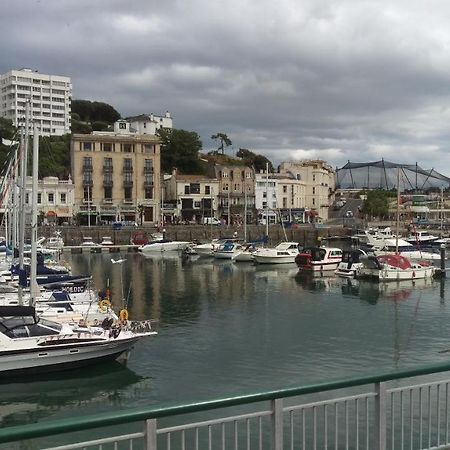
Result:
<instances>
[{"instance_id":1,"label":"low cream building with dark windows, right of large tan building","mask_svg":"<svg viewBox=\"0 0 450 450\"><path fill-rule=\"evenodd\" d=\"M218 216L219 180L216 178L183 175L174 169L165 192L167 201L174 205L173 216L177 220L203 223L205 217Z\"/></svg>"}]
</instances>

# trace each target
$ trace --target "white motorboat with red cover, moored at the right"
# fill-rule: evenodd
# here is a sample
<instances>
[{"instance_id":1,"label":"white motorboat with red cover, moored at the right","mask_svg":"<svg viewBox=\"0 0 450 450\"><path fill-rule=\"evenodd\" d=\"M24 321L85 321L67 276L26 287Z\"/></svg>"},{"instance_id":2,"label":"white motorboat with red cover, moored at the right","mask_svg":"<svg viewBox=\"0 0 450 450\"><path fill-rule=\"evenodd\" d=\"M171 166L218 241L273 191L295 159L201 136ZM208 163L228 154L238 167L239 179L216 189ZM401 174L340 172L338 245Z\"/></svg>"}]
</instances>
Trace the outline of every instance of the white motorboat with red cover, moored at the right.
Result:
<instances>
[{"instance_id":1,"label":"white motorboat with red cover, moored at the right","mask_svg":"<svg viewBox=\"0 0 450 450\"><path fill-rule=\"evenodd\" d=\"M436 268L426 262L416 262L402 255L365 256L357 278L371 278L377 281L398 281L432 278Z\"/></svg>"}]
</instances>

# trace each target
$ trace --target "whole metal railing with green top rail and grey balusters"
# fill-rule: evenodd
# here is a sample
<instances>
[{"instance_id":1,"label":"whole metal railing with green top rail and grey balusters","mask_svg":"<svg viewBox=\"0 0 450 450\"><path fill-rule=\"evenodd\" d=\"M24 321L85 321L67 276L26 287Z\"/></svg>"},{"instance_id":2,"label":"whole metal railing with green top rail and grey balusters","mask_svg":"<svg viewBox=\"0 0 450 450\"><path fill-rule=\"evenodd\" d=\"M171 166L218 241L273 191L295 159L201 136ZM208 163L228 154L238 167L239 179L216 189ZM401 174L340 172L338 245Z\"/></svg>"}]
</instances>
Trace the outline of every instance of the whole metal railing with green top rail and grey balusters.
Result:
<instances>
[{"instance_id":1,"label":"whole metal railing with green top rail and grey balusters","mask_svg":"<svg viewBox=\"0 0 450 450\"><path fill-rule=\"evenodd\" d=\"M3 428L0 443L14 448L14 442L22 445L24 440L51 436L54 440L63 434L61 441L75 443L47 450L444 449L450 446L450 379L403 383L445 371L450 371L450 362L188 405ZM230 407L231 412L222 411ZM114 436L110 429L102 430L113 426L128 428L122 433L115 428ZM107 436L92 438L90 432L90 439L84 440L69 434L93 429ZM48 445L45 442L41 445Z\"/></svg>"}]
</instances>

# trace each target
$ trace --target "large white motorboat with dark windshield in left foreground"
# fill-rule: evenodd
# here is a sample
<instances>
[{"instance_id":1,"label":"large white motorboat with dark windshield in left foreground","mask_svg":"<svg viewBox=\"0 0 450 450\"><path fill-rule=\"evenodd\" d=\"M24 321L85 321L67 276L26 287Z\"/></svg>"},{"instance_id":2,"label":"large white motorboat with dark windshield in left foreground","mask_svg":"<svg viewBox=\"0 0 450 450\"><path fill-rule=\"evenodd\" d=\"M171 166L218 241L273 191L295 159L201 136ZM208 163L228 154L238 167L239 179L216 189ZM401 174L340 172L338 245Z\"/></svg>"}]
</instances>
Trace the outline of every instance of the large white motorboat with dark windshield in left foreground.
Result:
<instances>
[{"instance_id":1,"label":"large white motorboat with dark windshield in left foreground","mask_svg":"<svg viewBox=\"0 0 450 450\"><path fill-rule=\"evenodd\" d=\"M38 318L32 306L0 306L0 376L30 375L115 360L157 334L150 322L70 325Z\"/></svg>"}]
</instances>

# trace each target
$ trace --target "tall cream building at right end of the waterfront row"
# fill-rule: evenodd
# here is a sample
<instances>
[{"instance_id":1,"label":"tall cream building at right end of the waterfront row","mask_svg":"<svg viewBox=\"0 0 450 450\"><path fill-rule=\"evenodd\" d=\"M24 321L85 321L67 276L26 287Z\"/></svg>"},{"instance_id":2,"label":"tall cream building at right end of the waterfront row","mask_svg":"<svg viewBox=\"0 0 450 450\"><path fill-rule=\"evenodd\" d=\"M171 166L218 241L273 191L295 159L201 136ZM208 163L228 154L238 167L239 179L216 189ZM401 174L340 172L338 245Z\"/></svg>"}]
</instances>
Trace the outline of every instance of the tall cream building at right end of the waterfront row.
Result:
<instances>
[{"instance_id":1,"label":"tall cream building at right end of the waterfront row","mask_svg":"<svg viewBox=\"0 0 450 450\"><path fill-rule=\"evenodd\" d=\"M324 220L328 219L335 191L335 171L331 166L322 160L283 162L279 172L304 182L305 208Z\"/></svg>"}]
</instances>

